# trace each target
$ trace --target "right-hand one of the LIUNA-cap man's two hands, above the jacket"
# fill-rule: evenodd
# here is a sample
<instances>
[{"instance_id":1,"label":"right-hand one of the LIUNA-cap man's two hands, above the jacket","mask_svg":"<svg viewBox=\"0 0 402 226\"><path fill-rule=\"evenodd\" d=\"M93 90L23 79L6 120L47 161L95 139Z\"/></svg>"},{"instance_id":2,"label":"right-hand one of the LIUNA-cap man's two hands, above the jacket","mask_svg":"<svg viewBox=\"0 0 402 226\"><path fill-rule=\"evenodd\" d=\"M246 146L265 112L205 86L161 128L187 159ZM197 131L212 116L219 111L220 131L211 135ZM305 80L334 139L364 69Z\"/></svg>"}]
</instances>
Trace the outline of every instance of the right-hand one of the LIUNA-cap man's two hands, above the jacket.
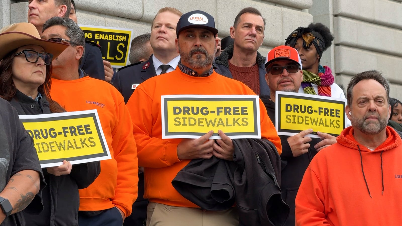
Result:
<instances>
[{"instance_id":1,"label":"right-hand one of the LIUNA-cap man's two hands, above the jacket","mask_svg":"<svg viewBox=\"0 0 402 226\"><path fill-rule=\"evenodd\" d=\"M222 140L216 140L217 143L212 144L212 154L216 158L233 161L234 145L232 139L226 136L222 130L218 130L218 135Z\"/></svg>"}]
</instances>

